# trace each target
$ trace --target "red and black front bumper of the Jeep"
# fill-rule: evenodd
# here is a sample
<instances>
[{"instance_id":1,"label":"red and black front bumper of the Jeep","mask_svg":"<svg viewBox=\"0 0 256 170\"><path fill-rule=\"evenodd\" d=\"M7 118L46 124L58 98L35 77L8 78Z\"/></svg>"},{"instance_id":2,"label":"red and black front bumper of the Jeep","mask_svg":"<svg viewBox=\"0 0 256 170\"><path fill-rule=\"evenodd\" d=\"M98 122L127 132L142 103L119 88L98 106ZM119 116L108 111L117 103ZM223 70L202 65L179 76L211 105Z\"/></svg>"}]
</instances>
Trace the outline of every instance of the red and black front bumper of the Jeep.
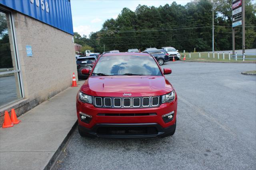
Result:
<instances>
[{"instance_id":1,"label":"red and black front bumper of the Jeep","mask_svg":"<svg viewBox=\"0 0 256 170\"><path fill-rule=\"evenodd\" d=\"M174 117L172 121L165 123L162 119L162 115L174 111ZM142 128L140 134L129 134L125 135L128 137L151 137L151 136L161 136L168 132L172 131L172 128L176 122L177 114L177 96L174 101L170 103L162 103L159 107L153 108L139 108L139 109L117 109L117 108L96 108L92 104L82 103L76 100L76 112L78 116L78 125L80 130L99 137L124 137L122 134L110 134L106 132L99 132L101 127L118 127L116 130L129 130L129 127L140 128L140 127L154 127L157 129L157 132L150 134L144 133L148 131L145 128ZM84 123L80 120L80 112L85 113L86 115L92 116L90 123ZM143 116L127 116L129 113L138 113L141 115L145 113L154 113ZM106 116L109 114L115 114L113 116ZM117 116L118 114L118 116ZM124 114L124 116L122 115ZM110 129L111 130L111 129ZM115 130L115 129L114 129ZM146 131L145 131L146 130ZM150 129L149 129L150 130Z\"/></svg>"}]
</instances>

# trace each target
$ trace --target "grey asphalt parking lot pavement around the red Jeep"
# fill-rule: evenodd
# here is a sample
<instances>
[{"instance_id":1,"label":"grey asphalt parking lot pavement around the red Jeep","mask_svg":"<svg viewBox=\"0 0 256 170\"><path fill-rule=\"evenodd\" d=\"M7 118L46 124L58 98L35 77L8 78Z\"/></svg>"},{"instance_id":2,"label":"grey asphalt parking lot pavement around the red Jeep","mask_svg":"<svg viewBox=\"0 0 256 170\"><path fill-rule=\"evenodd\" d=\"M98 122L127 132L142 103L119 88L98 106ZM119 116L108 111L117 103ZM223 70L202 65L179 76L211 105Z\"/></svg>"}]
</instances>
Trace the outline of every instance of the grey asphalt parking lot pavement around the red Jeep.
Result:
<instances>
[{"instance_id":1,"label":"grey asphalt parking lot pavement around the red Jeep","mask_svg":"<svg viewBox=\"0 0 256 170\"><path fill-rule=\"evenodd\" d=\"M178 93L174 136L81 138L76 130L54 169L255 169L253 63L168 62Z\"/></svg>"}]
</instances>

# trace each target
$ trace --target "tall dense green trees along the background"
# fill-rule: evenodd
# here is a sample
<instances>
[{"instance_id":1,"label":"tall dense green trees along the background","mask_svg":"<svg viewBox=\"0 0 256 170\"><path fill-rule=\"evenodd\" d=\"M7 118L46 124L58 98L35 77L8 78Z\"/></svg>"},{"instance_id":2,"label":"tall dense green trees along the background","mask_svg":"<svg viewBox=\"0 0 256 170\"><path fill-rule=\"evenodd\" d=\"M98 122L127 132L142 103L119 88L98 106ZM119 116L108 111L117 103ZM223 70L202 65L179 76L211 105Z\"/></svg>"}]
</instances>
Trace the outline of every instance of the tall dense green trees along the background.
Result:
<instances>
[{"instance_id":1,"label":"tall dense green trees along the background","mask_svg":"<svg viewBox=\"0 0 256 170\"><path fill-rule=\"evenodd\" d=\"M256 48L256 4L246 0L246 49ZM74 33L75 43L95 52L130 48L172 46L186 51L212 50L212 8L214 8L214 50L232 49L232 0L194 0L158 8L138 5L135 11L123 8L116 19L104 22L89 37ZM242 49L242 28L235 30L236 49Z\"/></svg>"}]
</instances>

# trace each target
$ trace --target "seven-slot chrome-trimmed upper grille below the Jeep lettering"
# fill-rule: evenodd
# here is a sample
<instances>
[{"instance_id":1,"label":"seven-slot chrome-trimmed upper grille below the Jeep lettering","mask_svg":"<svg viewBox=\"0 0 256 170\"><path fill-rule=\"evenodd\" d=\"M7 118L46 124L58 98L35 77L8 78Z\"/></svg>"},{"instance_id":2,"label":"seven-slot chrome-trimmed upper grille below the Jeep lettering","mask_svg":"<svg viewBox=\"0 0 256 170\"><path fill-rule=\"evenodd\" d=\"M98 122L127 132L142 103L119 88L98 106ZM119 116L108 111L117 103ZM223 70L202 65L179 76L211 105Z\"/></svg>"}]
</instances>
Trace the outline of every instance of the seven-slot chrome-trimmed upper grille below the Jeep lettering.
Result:
<instances>
[{"instance_id":1,"label":"seven-slot chrome-trimmed upper grille below the Jeep lettering","mask_svg":"<svg viewBox=\"0 0 256 170\"><path fill-rule=\"evenodd\" d=\"M142 108L158 107L160 97L94 97L92 103L95 107L108 108Z\"/></svg>"}]
</instances>

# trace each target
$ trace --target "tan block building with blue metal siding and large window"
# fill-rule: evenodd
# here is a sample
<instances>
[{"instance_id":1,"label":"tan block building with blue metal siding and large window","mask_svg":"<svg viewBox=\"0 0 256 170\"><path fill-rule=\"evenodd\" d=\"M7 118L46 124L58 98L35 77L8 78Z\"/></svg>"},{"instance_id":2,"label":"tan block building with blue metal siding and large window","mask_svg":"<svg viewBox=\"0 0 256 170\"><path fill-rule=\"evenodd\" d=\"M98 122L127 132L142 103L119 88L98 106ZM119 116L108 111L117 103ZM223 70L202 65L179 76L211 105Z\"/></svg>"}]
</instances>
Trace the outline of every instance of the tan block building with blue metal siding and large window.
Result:
<instances>
[{"instance_id":1,"label":"tan block building with blue metal siding and large window","mask_svg":"<svg viewBox=\"0 0 256 170\"><path fill-rule=\"evenodd\" d=\"M70 87L76 73L70 0L0 0L0 124Z\"/></svg>"}]
</instances>

